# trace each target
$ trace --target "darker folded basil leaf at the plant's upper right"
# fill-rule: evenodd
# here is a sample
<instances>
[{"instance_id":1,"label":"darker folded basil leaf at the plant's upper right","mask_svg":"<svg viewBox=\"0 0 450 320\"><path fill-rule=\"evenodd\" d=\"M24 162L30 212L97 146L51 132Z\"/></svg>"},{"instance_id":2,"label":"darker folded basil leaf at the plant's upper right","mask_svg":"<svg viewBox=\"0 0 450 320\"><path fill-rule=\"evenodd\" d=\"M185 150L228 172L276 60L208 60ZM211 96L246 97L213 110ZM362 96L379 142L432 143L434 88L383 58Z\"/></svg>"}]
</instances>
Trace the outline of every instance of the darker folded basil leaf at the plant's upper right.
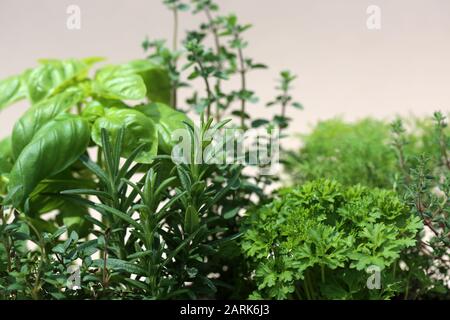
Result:
<instances>
[{"instance_id":1,"label":"darker folded basil leaf at the plant's upper right","mask_svg":"<svg viewBox=\"0 0 450 320\"><path fill-rule=\"evenodd\" d=\"M152 60L134 60L123 67L142 77L150 101L170 104L170 76L164 66Z\"/></svg>"}]
</instances>

